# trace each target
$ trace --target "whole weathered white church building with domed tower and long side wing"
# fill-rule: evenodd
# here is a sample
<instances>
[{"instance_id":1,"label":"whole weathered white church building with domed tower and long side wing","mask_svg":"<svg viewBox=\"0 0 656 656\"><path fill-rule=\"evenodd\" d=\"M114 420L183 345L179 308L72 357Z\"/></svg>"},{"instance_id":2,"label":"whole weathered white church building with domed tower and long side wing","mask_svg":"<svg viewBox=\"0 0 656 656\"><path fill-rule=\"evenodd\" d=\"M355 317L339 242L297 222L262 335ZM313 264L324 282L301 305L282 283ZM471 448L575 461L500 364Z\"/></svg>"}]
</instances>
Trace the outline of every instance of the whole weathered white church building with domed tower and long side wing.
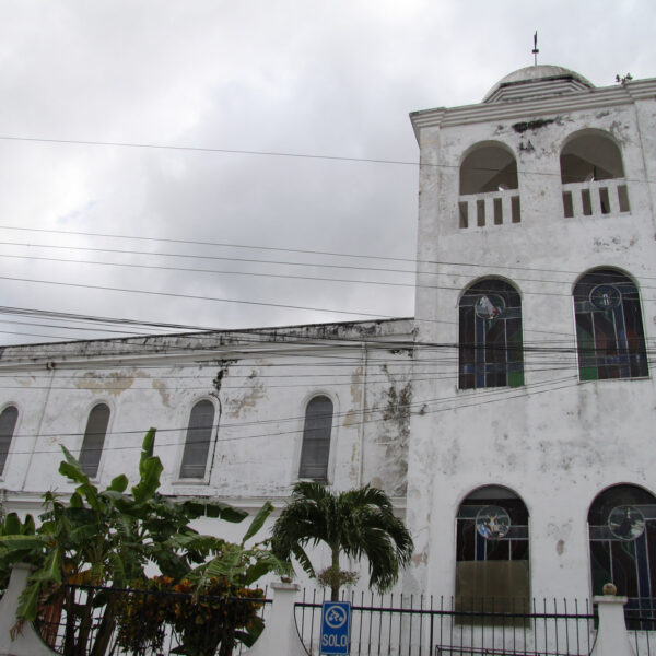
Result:
<instances>
[{"instance_id":1,"label":"whole weathered white church building with domed tower and long side wing","mask_svg":"<svg viewBox=\"0 0 656 656\"><path fill-rule=\"evenodd\" d=\"M612 581L651 607L656 79L534 66L410 118L414 317L4 348L4 509L67 490L59 444L106 484L154 426L174 496L383 488L415 542L406 593Z\"/></svg>"}]
</instances>

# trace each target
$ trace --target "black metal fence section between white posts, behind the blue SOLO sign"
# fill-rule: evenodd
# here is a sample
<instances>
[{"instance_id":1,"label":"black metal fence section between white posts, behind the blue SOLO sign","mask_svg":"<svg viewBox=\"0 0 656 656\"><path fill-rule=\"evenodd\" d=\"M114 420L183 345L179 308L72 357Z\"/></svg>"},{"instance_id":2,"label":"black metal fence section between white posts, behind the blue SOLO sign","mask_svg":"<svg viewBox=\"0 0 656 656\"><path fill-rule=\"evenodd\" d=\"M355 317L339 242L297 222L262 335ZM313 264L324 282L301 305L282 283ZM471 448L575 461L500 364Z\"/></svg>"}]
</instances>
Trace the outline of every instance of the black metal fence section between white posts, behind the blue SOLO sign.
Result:
<instances>
[{"instance_id":1,"label":"black metal fence section between white posts, behind the blue SOLO sign","mask_svg":"<svg viewBox=\"0 0 656 656\"><path fill-rule=\"evenodd\" d=\"M319 654L323 600L319 593L305 594L295 608L298 635L313 656ZM594 646L595 614L587 601L524 600L508 612L504 600L504 611L495 612L490 599L461 605L362 593L348 600L352 656L588 656Z\"/></svg>"}]
</instances>

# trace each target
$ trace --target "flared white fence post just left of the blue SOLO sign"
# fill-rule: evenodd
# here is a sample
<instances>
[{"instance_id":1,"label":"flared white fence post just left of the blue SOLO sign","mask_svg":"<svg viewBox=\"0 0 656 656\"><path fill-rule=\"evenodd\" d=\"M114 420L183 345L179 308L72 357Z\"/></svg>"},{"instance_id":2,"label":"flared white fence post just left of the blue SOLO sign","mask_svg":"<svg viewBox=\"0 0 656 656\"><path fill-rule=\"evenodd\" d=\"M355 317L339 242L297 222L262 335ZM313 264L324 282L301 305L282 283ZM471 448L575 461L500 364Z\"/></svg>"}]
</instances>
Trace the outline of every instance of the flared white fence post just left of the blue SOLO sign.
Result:
<instances>
[{"instance_id":1,"label":"flared white fence post just left of the blue SOLO sign","mask_svg":"<svg viewBox=\"0 0 656 656\"><path fill-rule=\"evenodd\" d=\"M298 637L294 602L301 586L295 583L273 583L273 604L265 630L248 651L248 656L307 656ZM1 656L1 655L0 655Z\"/></svg>"}]
</instances>

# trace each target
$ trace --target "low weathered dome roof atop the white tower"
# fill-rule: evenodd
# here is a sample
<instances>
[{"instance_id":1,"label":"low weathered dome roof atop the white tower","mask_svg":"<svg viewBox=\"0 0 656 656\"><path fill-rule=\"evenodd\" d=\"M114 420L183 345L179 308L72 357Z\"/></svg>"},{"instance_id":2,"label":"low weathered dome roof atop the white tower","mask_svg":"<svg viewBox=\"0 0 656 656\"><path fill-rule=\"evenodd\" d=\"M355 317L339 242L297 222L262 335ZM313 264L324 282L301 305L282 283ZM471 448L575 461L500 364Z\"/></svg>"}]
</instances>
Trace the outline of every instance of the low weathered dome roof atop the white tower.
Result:
<instances>
[{"instance_id":1,"label":"low weathered dome roof atop the white tower","mask_svg":"<svg viewBox=\"0 0 656 656\"><path fill-rule=\"evenodd\" d=\"M485 94L483 103L543 97L594 87L583 75L562 66L527 66L502 78Z\"/></svg>"}]
</instances>

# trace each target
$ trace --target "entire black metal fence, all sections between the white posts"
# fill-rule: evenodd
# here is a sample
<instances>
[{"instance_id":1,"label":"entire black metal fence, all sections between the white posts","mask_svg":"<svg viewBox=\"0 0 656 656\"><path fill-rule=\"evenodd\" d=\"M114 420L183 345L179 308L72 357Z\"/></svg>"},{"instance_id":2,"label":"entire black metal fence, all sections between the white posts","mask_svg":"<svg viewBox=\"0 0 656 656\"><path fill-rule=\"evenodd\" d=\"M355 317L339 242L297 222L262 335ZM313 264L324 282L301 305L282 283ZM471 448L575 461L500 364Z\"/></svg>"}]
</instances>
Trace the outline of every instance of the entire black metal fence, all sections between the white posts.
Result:
<instances>
[{"instance_id":1,"label":"entire black metal fence, all sections between the white posts","mask_svg":"<svg viewBox=\"0 0 656 656\"><path fill-rule=\"evenodd\" d=\"M236 656L257 634L271 600L140 589L66 586L43 605L37 631L63 656ZM295 605L298 636L318 656L325 591ZM456 602L432 596L352 595L351 656L589 656L597 617L588 601ZM499 610L503 608L503 610ZM656 656L656 622L628 609L636 656ZM629 617L630 616L630 617ZM281 628L278 628L281 629Z\"/></svg>"}]
</instances>

